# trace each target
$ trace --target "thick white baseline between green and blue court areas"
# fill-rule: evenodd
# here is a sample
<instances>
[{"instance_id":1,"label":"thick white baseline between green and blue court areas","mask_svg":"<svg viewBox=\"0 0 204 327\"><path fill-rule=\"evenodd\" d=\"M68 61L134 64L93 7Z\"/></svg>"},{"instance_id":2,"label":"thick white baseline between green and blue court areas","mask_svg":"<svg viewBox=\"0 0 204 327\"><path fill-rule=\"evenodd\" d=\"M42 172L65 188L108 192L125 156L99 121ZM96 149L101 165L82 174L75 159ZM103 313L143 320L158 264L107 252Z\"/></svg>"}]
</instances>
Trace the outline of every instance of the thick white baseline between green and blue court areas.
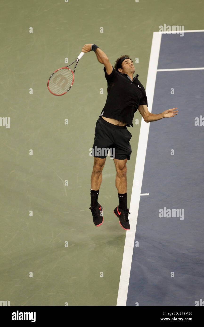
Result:
<instances>
[{"instance_id":1,"label":"thick white baseline between green and blue court areas","mask_svg":"<svg viewBox=\"0 0 204 327\"><path fill-rule=\"evenodd\" d=\"M148 98L148 110L152 112L152 104L155 90L155 82L157 76L158 58L161 43L161 33L154 32L152 39L152 47L150 53L149 69L147 75L146 94ZM139 200L142 186L142 178L144 171L144 162L147 149L147 140L149 134L149 124L141 120L139 132L138 152L135 164L135 173L133 179L132 195L130 201L129 221L131 229L126 232L125 246L122 259L121 278L118 291L117 306L125 306L127 301L127 292L130 279L130 269L132 263L132 255L135 241L135 232L137 226L137 217L139 209Z\"/></svg>"}]
</instances>

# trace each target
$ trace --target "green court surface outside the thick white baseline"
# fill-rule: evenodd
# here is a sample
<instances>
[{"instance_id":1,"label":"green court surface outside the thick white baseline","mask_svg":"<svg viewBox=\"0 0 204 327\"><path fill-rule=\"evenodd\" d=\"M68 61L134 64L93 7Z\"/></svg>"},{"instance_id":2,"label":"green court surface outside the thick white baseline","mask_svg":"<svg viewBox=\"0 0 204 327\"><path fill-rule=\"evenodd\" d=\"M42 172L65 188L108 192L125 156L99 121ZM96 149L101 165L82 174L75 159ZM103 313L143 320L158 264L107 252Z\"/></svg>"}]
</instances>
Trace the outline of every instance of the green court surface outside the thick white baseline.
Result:
<instances>
[{"instance_id":1,"label":"green court surface outside the thick white baseline","mask_svg":"<svg viewBox=\"0 0 204 327\"><path fill-rule=\"evenodd\" d=\"M65 58L70 63L85 43L96 43L113 65L123 54L138 58L145 87L153 32L164 24L202 29L202 6L186 0L1 1L0 116L10 117L10 128L0 126L0 301L116 305L126 232L113 213L118 195L110 157L99 194L102 226L94 226L89 210L89 149L107 95L103 65L94 52L85 53L63 96L51 95L47 80L66 66ZM139 112L133 122L128 206Z\"/></svg>"}]
</instances>

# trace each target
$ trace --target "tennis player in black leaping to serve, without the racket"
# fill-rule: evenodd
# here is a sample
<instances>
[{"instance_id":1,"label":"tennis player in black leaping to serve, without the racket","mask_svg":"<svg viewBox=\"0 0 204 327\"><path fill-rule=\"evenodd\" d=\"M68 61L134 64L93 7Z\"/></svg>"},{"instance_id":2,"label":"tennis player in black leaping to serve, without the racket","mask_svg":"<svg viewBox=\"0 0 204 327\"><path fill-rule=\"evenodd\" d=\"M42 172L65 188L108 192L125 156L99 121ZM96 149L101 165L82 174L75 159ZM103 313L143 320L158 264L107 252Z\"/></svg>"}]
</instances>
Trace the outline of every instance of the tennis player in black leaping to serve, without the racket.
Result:
<instances>
[{"instance_id":1,"label":"tennis player in black leaping to serve, without the racket","mask_svg":"<svg viewBox=\"0 0 204 327\"><path fill-rule=\"evenodd\" d=\"M85 44L83 52L94 51L97 59L104 65L105 78L107 80L107 99L104 108L96 122L95 138L92 147L94 156L93 172L91 175L91 206L93 222L98 227L103 223L103 208L98 203L99 189L102 182L102 169L105 164L107 151L110 149L116 166L116 188L118 190L119 205L114 209L119 218L121 227L128 231L130 224L127 208L127 160L130 160L131 133L127 127L133 127L133 117L137 110L146 123L159 120L164 117L174 117L177 108L166 110L162 113L153 114L148 111L147 97L143 85L138 76L133 77L135 67L132 59L126 55L121 56L115 62L113 68L106 54L96 44Z\"/></svg>"}]
</instances>

